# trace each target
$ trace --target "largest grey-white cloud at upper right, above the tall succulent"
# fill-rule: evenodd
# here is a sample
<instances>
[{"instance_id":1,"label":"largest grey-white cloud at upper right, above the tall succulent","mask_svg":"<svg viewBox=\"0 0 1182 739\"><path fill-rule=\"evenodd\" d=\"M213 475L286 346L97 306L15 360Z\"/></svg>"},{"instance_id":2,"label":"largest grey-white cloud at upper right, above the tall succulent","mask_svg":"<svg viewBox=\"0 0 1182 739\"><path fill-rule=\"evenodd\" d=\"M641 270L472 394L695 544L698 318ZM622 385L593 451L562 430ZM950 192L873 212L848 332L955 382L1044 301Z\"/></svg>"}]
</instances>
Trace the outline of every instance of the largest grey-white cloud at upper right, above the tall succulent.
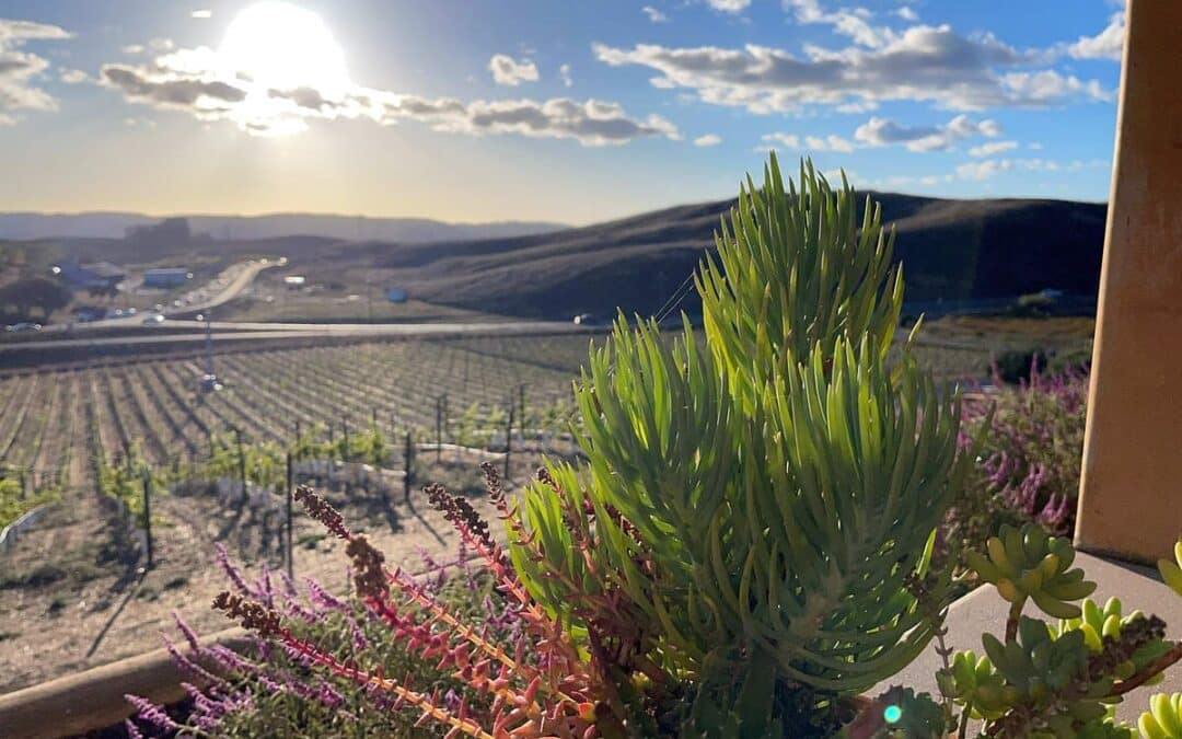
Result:
<instances>
[{"instance_id":1,"label":"largest grey-white cloud at upper right, above the tall succulent","mask_svg":"<svg viewBox=\"0 0 1182 739\"><path fill-rule=\"evenodd\" d=\"M658 76L650 80L655 86L693 90L702 102L756 114L884 101L981 110L1112 99L1112 92L1096 80L1022 69L1040 63L1044 52L1019 51L988 34L966 38L947 25L913 26L877 48L806 46L804 58L754 44L742 48L595 44L592 50L611 66L656 70ZM1007 71L1015 67L1021 71Z\"/></svg>"}]
</instances>

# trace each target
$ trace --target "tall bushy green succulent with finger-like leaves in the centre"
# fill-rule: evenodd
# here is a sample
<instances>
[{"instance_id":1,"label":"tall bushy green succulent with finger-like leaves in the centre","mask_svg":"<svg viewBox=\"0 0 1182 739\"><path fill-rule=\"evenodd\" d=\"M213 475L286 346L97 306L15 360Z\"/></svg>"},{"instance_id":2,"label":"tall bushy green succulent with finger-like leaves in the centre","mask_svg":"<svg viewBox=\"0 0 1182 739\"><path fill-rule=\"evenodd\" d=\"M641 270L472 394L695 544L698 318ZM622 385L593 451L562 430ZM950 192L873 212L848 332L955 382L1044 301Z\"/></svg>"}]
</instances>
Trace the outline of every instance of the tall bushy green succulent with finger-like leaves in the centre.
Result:
<instances>
[{"instance_id":1,"label":"tall bushy green succulent with finger-like leaves in the centre","mask_svg":"<svg viewBox=\"0 0 1182 739\"><path fill-rule=\"evenodd\" d=\"M844 180L801 163L798 190L773 156L695 275L704 339L621 317L576 385L589 461L511 517L530 592L618 685L691 686L686 732L804 735L937 628L908 582L947 598L928 569L969 458L956 395L907 351L886 367L892 240Z\"/></svg>"}]
</instances>

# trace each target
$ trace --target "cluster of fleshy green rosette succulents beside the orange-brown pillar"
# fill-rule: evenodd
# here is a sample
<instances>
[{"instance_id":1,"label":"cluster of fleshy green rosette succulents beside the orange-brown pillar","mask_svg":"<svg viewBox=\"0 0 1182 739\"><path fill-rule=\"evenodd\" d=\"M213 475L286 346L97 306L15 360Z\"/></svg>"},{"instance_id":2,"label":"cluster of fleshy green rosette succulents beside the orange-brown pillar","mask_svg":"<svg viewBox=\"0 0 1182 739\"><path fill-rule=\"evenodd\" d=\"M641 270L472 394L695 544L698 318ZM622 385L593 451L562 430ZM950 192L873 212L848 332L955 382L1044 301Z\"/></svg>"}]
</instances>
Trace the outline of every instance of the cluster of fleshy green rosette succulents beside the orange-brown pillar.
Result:
<instances>
[{"instance_id":1,"label":"cluster of fleshy green rosette succulents beside the orange-brown pillar","mask_svg":"<svg viewBox=\"0 0 1182 739\"><path fill-rule=\"evenodd\" d=\"M991 739L1131 739L1131 728L1115 719L1115 705L1160 681L1182 659L1182 646L1165 640L1156 616L1125 615L1118 598L1077 605L1095 583L1071 569L1074 549L1066 539L1031 524L1004 527L986 549L969 563L1011 609L1004 640L982 634L987 656L961 652L936 673L941 694L961 707L959 735L976 719L985 722L981 737ZM1175 556L1182 559L1182 546ZM1168 565L1176 563L1161 563L1167 582ZM1048 624L1022 615L1031 601L1048 615L1073 615ZM1139 722L1142 735L1182 737L1169 733L1182 731L1180 701L1154 696Z\"/></svg>"}]
</instances>

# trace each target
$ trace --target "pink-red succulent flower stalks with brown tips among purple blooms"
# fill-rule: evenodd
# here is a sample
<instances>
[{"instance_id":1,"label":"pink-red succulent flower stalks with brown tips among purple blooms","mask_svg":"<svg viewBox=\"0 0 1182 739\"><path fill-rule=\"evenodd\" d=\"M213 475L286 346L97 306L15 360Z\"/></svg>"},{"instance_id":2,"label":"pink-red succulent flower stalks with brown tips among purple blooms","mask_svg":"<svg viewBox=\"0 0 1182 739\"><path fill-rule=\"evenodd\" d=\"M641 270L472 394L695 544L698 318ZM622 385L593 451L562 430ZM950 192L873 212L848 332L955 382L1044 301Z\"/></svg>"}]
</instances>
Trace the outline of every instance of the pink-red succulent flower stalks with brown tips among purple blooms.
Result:
<instances>
[{"instance_id":1,"label":"pink-red succulent flower stalks with brown tips among purple blooms","mask_svg":"<svg viewBox=\"0 0 1182 739\"><path fill-rule=\"evenodd\" d=\"M495 469L487 466L486 474L492 498L507 510ZM290 599L279 603L271 590L252 591L233 572L236 590L219 595L214 607L264 640L265 656L280 649L301 668L343 681L345 702L365 705L357 711L405 711L416 724L433 724L449 737L625 735L621 728L624 708L613 699L612 686L596 672L564 624L546 615L525 591L487 523L467 500L441 486L426 492L487 570L498 597L506 603L502 609L492 610L480 602L478 617L472 618L470 607L457 608L401 569L390 570L369 539L350 531L340 514L306 486L297 490L297 500L331 534L346 542L355 597L352 620L382 631L372 638L377 652L358 654L331 634L303 630L306 617ZM322 592L319 597L325 596ZM355 646L358 633L364 636L350 627ZM383 649L410 657L409 663L389 665L381 659ZM229 659L229 653L222 654ZM271 657L264 661L266 669L282 663ZM391 667L407 672L389 672ZM436 678L434 686L417 678L424 667ZM239 705L240 696L226 700ZM200 704L196 694L194 701ZM176 728L154 713L158 707L141 707L142 718Z\"/></svg>"}]
</instances>

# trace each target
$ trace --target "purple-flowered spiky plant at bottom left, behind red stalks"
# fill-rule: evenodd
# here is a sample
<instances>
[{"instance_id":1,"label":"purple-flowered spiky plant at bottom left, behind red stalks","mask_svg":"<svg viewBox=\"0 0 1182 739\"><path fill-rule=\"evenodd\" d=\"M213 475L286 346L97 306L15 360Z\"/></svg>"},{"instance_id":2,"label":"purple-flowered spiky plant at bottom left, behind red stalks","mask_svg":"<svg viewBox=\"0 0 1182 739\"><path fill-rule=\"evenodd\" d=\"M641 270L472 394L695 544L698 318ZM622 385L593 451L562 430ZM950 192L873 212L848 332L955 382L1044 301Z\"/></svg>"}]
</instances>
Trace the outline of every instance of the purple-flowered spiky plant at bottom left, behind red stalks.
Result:
<instances>
[{"instance_id":1,"label":"purple-flowered spiky plant at bottom left, behind red stalks","mask_svg":"<svg viewBox=\"0 0 1182 739\"><path fill-rule=\"evenodd\" d=\"M496 638L513 638L518 621L508 602L481 570L467 566L461 545L454 562L440 564L423 556L426 570L415 581L424 596L446 604L452 612L483 623ZM369 616L353 597L338 597L314 579L298 584L266 566L248 583L219 549L219 563L234 596L251 598L281 614L294 640L316 643L342 655L348 663L379 666L385 674L414 673L415 682L437 693L442 706L459 712L461 704L474 714L492 704L437 660L423 660L409 641L390 638L389 624ZM411 607L413 608L413 607ZM365 737L443 735L439 726L416 727L416 713L395 711L395 699L361 688L352 678L319 670L299 652L255 640L238 652L204 644L176 617L183 641L167 640L173 659L188 679L189 700L173 709L128 696L137 708L130 728L148 735L213 737ZM197 686L201 686L200 688ZM130 732L129 732L130 733Z\"/></svg>"}]
</instances>

